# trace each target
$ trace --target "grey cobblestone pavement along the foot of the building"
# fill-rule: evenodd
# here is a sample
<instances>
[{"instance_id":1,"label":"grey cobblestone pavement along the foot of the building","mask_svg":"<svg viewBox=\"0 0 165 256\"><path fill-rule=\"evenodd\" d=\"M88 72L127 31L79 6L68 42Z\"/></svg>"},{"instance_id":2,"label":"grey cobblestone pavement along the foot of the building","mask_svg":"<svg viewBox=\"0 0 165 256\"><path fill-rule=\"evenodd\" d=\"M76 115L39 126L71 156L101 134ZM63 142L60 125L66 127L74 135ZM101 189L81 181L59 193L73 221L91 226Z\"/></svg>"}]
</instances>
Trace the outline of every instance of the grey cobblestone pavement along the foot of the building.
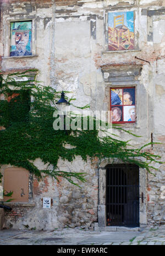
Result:
<instances>
[{"instance_id":1,"label":"grey cobblestone pavement along the foot of the building","mask_svg":"<svg viewBox=\"0 0 165 256\"><path fill-rule=\"evenodd\" d=\"M141 231L85 231L64 228L53 231L0 230L0 245L165 245L165 227Z\"/></svg>"}]
</instances>

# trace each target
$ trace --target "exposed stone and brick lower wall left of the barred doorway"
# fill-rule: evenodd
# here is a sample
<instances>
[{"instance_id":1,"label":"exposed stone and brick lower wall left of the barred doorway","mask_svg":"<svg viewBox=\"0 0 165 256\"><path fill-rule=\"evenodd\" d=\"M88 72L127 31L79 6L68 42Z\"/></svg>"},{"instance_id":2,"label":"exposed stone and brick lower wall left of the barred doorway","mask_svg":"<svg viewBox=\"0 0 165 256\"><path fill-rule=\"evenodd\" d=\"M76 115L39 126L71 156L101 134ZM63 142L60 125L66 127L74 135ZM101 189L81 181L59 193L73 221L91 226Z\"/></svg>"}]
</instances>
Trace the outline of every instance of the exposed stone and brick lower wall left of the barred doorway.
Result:
<instances>
[{"instance_id":1,"label":"exposed stone and brick lower wall left of the barred doorway","mask_svg":"<svg viewBox=\"0 0 165 256\"><path fill-rule=\"evenodd\" d=\"M43 170L46 168L40 159L34 164ZM5 226L10 228L36 228L37 230L53 230L54 228L90 227L97 222L98 184L96 164L90 160L84 162L80 157L70 163L59 160L58 166L62 171L86 173L86 183L78 183L80 187L70 184L59 177L54 181L50 177L43 177L38 181L34 177L33 195L29 203L6 203L12 211L5 211ZM7 166L4 167L7 168ZM44 197L52 199L50 209L42 208Z\"/></svg>"}]
</instances>

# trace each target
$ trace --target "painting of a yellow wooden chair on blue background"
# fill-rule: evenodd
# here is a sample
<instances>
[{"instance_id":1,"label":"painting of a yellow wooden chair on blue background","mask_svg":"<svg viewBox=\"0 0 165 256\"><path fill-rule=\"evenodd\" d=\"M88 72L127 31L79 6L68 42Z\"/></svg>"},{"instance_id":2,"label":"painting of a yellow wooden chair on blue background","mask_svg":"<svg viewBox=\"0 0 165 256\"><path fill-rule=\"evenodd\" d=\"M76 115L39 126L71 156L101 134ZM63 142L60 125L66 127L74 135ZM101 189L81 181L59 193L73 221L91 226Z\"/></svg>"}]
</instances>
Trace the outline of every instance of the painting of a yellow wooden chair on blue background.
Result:
<instances>
[{"instance_id":1,"label":"painting of a yellow wooden chair on blue background","mask_svg":"<svg viewBox=\"0 0 165 256\"><path fill-rule=\"evenodd\" d=\"M108 13L108 50L134 50L134 12Z\"/></svg>"}]
</instances>

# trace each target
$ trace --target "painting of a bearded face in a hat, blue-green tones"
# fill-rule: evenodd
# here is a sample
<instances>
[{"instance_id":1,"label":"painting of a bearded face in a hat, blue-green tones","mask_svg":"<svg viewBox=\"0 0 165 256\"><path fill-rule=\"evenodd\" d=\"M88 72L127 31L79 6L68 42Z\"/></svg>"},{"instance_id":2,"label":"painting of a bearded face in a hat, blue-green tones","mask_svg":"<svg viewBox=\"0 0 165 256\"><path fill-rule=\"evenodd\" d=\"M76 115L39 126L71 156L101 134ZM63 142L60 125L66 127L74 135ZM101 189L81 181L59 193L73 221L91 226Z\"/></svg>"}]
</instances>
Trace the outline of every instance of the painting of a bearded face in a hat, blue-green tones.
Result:
<instances>
[{"instance_id":1,"label":"painting of a bearded face in a hat, blue-green tones","mask_svg":"<svg viewBox=\"0 0 165 256\"><path fill-rule=\"evenodd\" d=\"M10 23L10 56L32 55L32 21Z\"/></svg>"}]
</instances>

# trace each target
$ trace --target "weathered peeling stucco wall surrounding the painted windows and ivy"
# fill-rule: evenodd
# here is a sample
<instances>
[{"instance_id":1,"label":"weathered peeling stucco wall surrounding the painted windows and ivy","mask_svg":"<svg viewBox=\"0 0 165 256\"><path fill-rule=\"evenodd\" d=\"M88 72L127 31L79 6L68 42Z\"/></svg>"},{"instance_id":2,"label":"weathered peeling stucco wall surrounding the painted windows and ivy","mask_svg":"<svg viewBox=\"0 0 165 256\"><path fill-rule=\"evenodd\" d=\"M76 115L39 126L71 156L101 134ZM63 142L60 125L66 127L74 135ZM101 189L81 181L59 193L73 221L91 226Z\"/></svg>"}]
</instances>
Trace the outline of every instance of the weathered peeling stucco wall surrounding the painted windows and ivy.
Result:
<instances>
[{"instance_id":1,"label":"weathered peeling stucco wall surrounding the painted windows and ivy","mask_svg":"<svg viewBox=\"0 0 165 256\"><path fill-rule=\"evenodd\" d=\"M109 52L107 14L129 10L135 12L135 50ZM33 56L9 57L10 21L28 19L33 24ZM75 105L90 104L91 110L108 110L108 93L112 85L136 85L137 121L135 124L123 124L123 127L142 137L135 138L123 132L118 135L124 140L132 139L132 144L136 146L149 143L151 139L164 143L164 25L164 0L2 1L2 72L38 68L38 80L57 90L71 91L67 96L76 97ZM115 82L103 77L105 67L110 71L116 67L117 72L120 72L126 64L129 67L127 72L131 67L142 67L133 80L123 81L118 75ZM148 150L161 155L162 161L165 160L163 144L153 145ZM41 163L38 165L42 166ZM38 183L34 179L35 206L28 206L29 210L23 210L20 216L17 214L18 208L15 208L17 217L14 213L10 214L7 225L23 228L24 224L46 229L90 226L97 221L96 166L91 166L90 161L84 164L79 158L72 164L59 161L58 166L87 172L87 183L79 189L64 180L57 183L45 178ZM144 215L147 215L147 220L141 223L148 225L165 221L164 199L161 199L161 187L165 181L164 165L157 164L156 167L159 171L155 171L155 177L146 173ZM58 205L43 209L41 198L46 196L59 197ZM23 209L27 209L27 206Z\"/></svg>"}]
</instances>

